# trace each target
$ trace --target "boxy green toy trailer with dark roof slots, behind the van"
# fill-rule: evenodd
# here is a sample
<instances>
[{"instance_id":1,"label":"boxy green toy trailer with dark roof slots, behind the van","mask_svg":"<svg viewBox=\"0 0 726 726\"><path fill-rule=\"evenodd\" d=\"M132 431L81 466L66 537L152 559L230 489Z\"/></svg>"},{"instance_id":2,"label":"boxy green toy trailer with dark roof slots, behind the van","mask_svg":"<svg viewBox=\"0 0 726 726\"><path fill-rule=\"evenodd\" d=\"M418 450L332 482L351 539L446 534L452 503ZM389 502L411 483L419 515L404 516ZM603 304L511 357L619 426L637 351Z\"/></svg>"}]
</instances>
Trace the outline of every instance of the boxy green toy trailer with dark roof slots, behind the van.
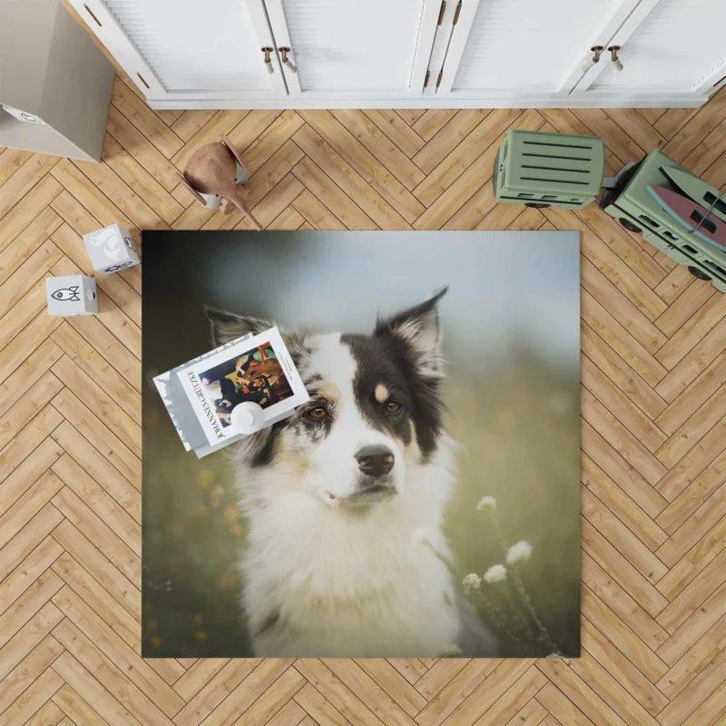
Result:
<instances>
[{"instance_id":1,"label":"boxy green toy trailer with dark roof slots, behind the van","mask_svg":"<svg viewBox=\"0 0 726 726\"><path fill-rule=\"evenodd\" d=\"M604 171L597 136L510 131L496 154L496 201L579 210L600 193Z\"/></svg>"}]
</instances>

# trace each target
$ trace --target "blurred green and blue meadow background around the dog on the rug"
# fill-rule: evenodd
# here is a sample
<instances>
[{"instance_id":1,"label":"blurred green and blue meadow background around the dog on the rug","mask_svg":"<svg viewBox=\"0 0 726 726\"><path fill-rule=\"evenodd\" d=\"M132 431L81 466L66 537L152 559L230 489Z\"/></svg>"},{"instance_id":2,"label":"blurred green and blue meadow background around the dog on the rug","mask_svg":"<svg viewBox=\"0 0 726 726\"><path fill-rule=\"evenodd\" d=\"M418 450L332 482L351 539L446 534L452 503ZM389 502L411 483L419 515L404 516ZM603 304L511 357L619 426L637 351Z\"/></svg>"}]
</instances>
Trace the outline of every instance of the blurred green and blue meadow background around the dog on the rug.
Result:
<instances>
[{"instance_id":1,"label":"blurred green and blue meadow background around the dog on the rug","mask_svg":"<svg viewBox=\"0 0 726 726\"><path fill-rule=\"evenodd\" d=\"M461 444L446 513L456 566L482 575L504 562L476 510L495 496L508 543L534 547L520 573L550 638L579 654L578 233L144 232L142 273L144 657L252 654L229 456L187 454L152 384L211 348L202 305L367 332L378 312L443 285L446 423ZM506 585L483 587L506 613ZM534 634L496 635L503 655L552 652Z\"/></svg>"}]
</instances>

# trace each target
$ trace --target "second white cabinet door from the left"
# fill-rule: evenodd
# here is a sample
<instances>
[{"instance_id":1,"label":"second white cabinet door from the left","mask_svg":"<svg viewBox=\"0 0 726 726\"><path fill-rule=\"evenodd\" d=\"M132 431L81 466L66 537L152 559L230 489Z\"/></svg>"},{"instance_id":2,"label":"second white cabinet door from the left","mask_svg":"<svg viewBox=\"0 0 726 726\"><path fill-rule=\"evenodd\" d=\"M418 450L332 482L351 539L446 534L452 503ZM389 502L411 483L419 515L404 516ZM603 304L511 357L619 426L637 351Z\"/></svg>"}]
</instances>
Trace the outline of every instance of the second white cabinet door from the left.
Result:
<instances>
[{"instance_id":1,"label":"second white cabinet door from the left","mask_svg":"<svg viewBox=\"0 0 726 726\"><path fill-rule=\"evenodd\" d=\"M290 98L420 95L441 0L265 0Z\"/></svg>"}]
</instances>

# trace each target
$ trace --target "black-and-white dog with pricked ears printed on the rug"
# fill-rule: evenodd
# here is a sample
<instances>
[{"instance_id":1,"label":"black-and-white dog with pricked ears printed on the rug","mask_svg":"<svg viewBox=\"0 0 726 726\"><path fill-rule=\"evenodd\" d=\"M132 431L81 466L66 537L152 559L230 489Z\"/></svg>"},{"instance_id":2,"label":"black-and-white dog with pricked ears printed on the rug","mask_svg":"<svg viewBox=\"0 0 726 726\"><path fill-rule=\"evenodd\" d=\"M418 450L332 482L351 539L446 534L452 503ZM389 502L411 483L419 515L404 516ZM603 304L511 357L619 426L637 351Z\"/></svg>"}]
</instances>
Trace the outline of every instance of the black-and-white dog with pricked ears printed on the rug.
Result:
<instances>
[{"instance_id":1,"label":"black-and-white dog with pricked ears printed on the rug","mask_svg":"<svg viewBox=\"0 0 726 726\"><path fill-rule=\"evenodd\" d=\"M236 454L256 655L494 654L434 552L450 556L441 527L456 481L439 397L445 293L378 319L370 335L281 329L309 403ZM217 346L274 325L207 314Z\"/></svg>"}]
</instances>

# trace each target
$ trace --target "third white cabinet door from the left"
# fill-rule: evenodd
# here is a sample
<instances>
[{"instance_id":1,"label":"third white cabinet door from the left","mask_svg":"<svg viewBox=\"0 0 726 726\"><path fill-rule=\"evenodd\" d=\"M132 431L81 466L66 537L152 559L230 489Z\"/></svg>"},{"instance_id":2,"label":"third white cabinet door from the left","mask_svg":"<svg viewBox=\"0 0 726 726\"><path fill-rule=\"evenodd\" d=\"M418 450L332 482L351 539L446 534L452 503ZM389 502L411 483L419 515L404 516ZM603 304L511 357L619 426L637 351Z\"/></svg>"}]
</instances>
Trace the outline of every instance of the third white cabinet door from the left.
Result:
<instances>
[{"instance_id":1,"label":"third white cabinet door from the left","mask_svg":"<svg viewBox=\"0 0 726 726\"><path fill-rule=\"evenodd\" d=\"M462 0L437 96L566 96L638 0Z\"/></svg>"}]
</instances>

